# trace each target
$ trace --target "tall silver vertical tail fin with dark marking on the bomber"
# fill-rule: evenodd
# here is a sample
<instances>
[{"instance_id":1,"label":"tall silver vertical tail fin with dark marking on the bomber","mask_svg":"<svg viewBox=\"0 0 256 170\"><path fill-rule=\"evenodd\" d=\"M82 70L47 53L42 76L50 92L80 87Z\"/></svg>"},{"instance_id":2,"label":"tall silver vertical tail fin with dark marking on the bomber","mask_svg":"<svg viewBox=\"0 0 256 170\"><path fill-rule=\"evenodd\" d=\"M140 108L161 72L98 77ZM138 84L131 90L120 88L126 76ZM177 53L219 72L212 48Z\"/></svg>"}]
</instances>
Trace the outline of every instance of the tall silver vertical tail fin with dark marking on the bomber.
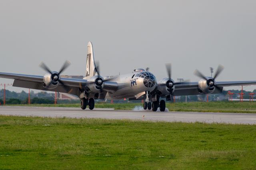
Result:
<instances>
[{"instance_id":1,"label":"tall silver vertical tail fin with dark marking on the bomber","mask_svg":"<svg viewBox=\"0 0 256 170\"><path fill-rule=\"evenodd\" d=\"M99 75L99 72L96 68L94 56L93 56L93 48L92 42L89 41L87 45L87 64L86 64L86 77L92 77L95 75Z\"/></svg>"}]
</instances>

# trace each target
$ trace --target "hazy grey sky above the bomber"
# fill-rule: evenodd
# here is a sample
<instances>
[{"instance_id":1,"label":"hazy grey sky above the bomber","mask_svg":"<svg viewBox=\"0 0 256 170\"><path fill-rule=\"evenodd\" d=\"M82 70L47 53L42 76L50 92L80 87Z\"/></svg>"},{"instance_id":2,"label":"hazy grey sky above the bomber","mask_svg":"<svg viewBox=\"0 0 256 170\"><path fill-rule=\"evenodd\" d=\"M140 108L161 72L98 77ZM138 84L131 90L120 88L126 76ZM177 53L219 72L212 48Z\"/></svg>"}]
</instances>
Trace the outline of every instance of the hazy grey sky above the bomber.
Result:
<instances>
[{"instance_id":1,"label":"hazy grey sky above the bomber","mask_svg":"<svg viewBox=\"0 0 256 170\"><path fill-rule=\"evenodd\" d=\"M222 64L217 81L256 80L255 9L255 0L0 0L0 72L44 75L41 61L58 71L68 60L63 74L84 75L92 41L102 76L150 67L160 80L172 63L174 80L198 81L196 68L210 75Z\"/></svg>"}]
</instances>

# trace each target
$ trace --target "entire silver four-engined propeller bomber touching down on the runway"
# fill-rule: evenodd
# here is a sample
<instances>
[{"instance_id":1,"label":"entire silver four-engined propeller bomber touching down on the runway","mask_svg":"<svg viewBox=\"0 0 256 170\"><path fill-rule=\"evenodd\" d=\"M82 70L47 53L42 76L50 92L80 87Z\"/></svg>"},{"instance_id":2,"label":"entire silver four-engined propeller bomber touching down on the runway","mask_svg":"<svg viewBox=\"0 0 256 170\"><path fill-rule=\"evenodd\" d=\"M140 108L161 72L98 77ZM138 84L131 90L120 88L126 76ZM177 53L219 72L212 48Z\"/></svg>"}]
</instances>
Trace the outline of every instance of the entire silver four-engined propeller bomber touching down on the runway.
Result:
<instances>
[{"instance_id":1,"label":"entire silver four-engined propeller bomber touching down on the runway","mask_svg":"<svg viewBox=\"0 0 256 170\"><path fill-rule=\"evenodd\" d=\"M13 86L47 90L52 92L70 93L81 100L81 108L94 109L95 99L144 100L144 109L165 110L165 101L172 96L217 94L224 86L254 85L256 81L216 82L223 67L219 66L214 77L204 76L198 70L195 74L201 78L198 82L174 82L171 78L171 65L166 64L168 77L156 81L154 74L148 69L135 69L131 74L107 76L103 78L96 67L92 43L87 45L86 73L83 79L62 78L60 74L70 65L65 62L59 72L51 71L44 63L40 64L46 74L34 76L0 72L0 78L14 79ZM162 100L160 100L162 99ZM165 100L164 100L165 99Z\"/></svg>"}]
</instances>

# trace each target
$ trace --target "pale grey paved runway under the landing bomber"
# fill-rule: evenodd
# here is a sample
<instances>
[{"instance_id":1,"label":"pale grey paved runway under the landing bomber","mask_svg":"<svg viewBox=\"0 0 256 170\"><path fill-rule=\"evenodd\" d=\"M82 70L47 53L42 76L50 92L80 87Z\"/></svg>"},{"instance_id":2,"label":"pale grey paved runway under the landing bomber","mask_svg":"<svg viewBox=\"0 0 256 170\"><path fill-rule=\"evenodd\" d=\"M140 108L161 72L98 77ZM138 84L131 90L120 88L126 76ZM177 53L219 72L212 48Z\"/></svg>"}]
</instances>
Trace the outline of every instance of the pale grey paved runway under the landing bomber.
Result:
<instances>
[{"instance_id":1,"label":"pale grey paved runway under the landing bomber","mask_svg":"<svg viewBox=\"0 0 256 170\"><path fill-rule=\"evenodd\" d=\"M39 117L73 117L73 118L104 118L104 119L134 119L142 121L168 122L205 122L256 124L256 114L249 113L203 113L203 112L153 112L128 111L114 109L82 110L70 107L23 107L0 106L0 115L39 116ZM143 117L144 115L144 117Z\"/></svg>"}]
</instances>

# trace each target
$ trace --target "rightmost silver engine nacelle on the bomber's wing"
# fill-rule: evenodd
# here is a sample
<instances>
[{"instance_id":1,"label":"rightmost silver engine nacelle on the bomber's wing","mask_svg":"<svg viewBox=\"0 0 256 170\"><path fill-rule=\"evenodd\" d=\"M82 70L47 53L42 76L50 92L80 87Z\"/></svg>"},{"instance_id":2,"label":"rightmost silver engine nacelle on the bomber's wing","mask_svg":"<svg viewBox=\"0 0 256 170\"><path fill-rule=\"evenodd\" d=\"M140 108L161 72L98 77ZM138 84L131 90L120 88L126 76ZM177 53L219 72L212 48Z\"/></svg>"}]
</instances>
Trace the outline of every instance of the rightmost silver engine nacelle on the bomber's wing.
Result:
<instances>
[{"instance_id":1,"label":"rightmost silver engine nacelle on the bomber's wing","mask_svg":"<svg viewBox=\"0 0 256 170\"><path fill-rule=\"evenodd\" d=\"M205 77L198 82L198 92L201 94L211 94L214 92L215 87L214 84L216 83L212 77Z\"/></svg>"}]
</instances>

